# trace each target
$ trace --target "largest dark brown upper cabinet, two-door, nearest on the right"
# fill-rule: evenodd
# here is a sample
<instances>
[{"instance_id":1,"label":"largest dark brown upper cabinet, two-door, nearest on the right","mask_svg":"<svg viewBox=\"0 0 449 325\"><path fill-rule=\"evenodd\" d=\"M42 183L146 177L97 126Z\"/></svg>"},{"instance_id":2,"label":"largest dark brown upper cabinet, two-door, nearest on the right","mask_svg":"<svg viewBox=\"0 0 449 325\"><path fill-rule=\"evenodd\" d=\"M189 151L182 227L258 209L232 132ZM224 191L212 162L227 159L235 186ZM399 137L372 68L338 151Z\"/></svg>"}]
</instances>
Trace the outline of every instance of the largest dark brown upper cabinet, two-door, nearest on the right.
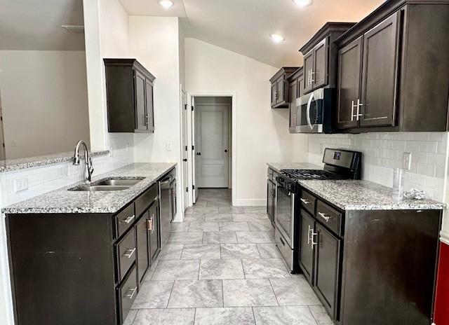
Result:
<instances>
[{"instance_id":1,"label":"largest dark brown upper cabinet, two-door, nearest on the right","mask_svg":"<svg viewBox=\"0 0 449 325\"><path fill-rule=\"evenodd\" d=\"M335 41L337 129L444 132L449 1L387 1Z\"/></svg>"}]
</instances>

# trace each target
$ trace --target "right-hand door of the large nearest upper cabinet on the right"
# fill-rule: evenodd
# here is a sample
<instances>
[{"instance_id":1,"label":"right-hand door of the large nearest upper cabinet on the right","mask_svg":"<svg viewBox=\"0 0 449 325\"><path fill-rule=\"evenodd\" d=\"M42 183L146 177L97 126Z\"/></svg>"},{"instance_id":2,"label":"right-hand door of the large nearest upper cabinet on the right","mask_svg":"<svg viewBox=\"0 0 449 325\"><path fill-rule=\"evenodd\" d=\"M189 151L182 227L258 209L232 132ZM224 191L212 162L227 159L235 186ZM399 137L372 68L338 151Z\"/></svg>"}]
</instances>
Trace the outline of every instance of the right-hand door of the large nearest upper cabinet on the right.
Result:
<instances>
[{"instance_id":1,"label":"right-hand door of the large nearest upper cabinet on the right","mask_svg":"<svg viewBox=\"0 0 449 325\"><path fill-rule=\"evenodd\" d=\"M360 126L393 126L398 71L398 13L363 35Z\"/></svg>"}]
</instances>

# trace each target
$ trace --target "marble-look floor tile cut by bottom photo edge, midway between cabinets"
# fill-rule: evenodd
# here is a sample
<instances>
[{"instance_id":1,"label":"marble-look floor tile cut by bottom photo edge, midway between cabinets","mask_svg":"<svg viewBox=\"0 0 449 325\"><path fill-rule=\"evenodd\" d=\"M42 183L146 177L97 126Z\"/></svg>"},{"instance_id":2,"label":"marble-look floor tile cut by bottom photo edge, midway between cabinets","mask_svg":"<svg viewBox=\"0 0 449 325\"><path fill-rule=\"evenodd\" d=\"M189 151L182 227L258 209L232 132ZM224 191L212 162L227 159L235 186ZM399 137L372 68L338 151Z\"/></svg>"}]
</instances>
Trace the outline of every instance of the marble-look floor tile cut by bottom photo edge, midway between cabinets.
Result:
<instances>
[{"instance_id":1,"label":"marble-look floor tile cut by bottom photo edge, midway between cabinets","mask_svg":"<svg viewBox=\"0 0 449 325\"><path fill-rule=\"evenodd\" d=\"M195 325L255 325L251 307L197 308Z\"/></svg>"}]
</instances>

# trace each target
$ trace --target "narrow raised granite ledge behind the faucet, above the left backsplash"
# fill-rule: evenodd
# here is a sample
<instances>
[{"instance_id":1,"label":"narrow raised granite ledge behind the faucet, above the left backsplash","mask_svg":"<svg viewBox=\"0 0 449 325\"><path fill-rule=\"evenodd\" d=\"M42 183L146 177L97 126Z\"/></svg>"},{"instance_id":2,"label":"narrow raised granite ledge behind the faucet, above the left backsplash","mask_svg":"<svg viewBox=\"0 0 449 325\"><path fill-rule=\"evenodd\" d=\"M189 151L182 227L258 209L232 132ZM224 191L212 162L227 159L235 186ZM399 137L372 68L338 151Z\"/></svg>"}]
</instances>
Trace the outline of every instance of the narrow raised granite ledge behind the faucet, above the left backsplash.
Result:
<instances>
[{"instance_id":1,"label":"narrow raised granite ledge behind the faucet, above the left backsplash","mask_svg":"<svg viewBox=\"0 0 449 325\"><path fill-rule=\"evenodd\" d=\"M100 155L107 155L108 153L109 150L92 151L89 153L89 156L98 157ZM74 152L69 151L65 153L53 153L51 155L0 160L0 172L11 172L12 170L25 170L25 168L64 163L65 161L72 160L73 155Z\"/></svg>"}]
</instances>

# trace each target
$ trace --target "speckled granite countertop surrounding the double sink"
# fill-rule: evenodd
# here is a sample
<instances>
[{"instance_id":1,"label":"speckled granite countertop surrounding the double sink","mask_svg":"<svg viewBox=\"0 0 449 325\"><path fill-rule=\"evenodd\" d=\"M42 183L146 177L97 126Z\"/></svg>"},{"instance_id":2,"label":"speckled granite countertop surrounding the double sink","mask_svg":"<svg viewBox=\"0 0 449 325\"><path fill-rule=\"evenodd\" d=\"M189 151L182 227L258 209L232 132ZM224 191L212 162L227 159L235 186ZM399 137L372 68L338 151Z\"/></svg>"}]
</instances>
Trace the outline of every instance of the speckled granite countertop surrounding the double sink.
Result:
<instances>
[{"instance_id":1,"label":"speckled granite countertop surrounding the double sink","mask_svg":"<svg viewBox=\"0 0 449 325\"><path fill-rule=\"evenodd\" d=\"M93 182L100 179L130 177L142 179L134 186L123 191L67 191L84 184L79 182L59 188L28 200L15 203L1 210L5 214L87 214L118 212L128 202L134 200L163 174L176 166L176 163L134 163L112 172L93 177Z\"/></svg>"}]
</instances>

